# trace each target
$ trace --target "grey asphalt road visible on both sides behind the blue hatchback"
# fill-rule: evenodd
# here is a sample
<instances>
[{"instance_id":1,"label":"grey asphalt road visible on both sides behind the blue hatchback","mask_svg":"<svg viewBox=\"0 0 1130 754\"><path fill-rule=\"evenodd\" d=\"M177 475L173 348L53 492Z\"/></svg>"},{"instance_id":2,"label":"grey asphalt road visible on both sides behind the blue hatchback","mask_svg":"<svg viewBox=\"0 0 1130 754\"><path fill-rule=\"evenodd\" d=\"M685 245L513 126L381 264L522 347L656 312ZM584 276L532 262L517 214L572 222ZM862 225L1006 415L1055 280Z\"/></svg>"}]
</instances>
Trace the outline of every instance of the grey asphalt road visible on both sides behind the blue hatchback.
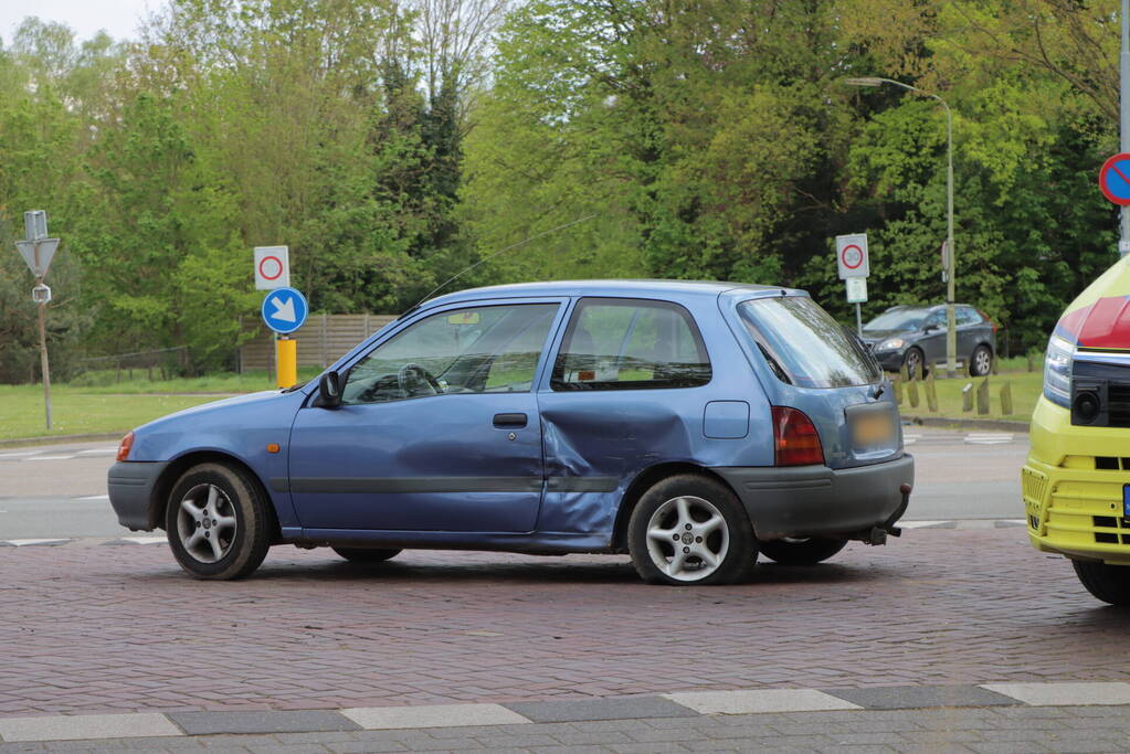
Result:
<instances>
[{"instance_id":1,"label":"grey asphalt road visible on both sides behind the blue hatchback","mask_svg":"<svg viewBox=\"0 0 1130 754\"><path fill-rule=\"evenodd\" d=\"M1027 435L906 428L915 489L904 520L1023 518ZM115 537L106 497L112 442L0 449L0 540Z\"/></svg>"}]
</instances>

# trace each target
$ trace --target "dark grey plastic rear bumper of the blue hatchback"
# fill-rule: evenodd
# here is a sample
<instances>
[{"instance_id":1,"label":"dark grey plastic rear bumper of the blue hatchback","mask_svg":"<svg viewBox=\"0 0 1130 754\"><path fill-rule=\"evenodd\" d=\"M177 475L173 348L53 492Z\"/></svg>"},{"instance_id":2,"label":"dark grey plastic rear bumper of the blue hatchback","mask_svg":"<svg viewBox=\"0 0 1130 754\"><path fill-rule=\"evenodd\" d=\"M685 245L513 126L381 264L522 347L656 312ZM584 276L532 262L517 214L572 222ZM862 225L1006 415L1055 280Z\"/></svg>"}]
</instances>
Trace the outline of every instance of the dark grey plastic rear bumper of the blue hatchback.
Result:
<instances>
[{"instance_id":1,"label":"dark grey plastic rear bumper of the blue hatchback","mask_svg":"<svg viewBox=\"0 0 1130 754\"><path fill-rule=\"evenodd\" d=\"M894 524L914 484L914 457L855 468L757 466L714 468L730 483L760 540L853 536Z\"/></svg>"}]
</instances>

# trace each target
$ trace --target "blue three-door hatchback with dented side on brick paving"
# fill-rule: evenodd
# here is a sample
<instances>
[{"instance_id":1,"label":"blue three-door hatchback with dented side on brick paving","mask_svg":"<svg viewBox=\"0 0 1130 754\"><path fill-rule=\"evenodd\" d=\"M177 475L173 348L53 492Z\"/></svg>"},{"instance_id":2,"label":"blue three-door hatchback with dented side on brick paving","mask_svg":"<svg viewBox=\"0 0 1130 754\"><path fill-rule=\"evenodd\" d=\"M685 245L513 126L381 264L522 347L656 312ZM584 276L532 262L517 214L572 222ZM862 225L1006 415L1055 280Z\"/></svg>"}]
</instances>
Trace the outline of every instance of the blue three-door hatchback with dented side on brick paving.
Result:
<instances>
[{"instance_id":1,"label":"blue three-door hatchback with dented side on brick paving","mask_svg":"<svg viewBox=\"0 0 1130 754\"><path fill-rule=\"evenodd\" d=\"M881 544L913 476L883 371L803 291L615 280L433 299L316 380L136 429L108 484L199 578L290 543L627 552L686 585Z\"/></svg>"}]
</instances>

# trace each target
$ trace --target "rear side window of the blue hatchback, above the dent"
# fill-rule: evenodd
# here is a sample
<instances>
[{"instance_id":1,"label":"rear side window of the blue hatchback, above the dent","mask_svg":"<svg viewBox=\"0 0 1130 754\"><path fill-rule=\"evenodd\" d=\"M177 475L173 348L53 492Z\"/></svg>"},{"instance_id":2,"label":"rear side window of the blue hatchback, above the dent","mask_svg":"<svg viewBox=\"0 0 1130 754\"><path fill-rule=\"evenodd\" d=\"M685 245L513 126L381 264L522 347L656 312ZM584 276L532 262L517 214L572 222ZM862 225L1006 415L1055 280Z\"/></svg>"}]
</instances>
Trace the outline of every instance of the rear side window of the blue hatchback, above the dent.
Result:
<instances>
[{"instance_id":1,"label":"rear side window of the blue hatchback, above the dent","mask_svg":"<svg viewBox=\"0 0 1130 754\"><path fill-rule=\"evenodd\" d=\"M577 301L554 363L555 391L697 387L711 379L694 319L667 301Z\"/></svg>"}]
</instances>

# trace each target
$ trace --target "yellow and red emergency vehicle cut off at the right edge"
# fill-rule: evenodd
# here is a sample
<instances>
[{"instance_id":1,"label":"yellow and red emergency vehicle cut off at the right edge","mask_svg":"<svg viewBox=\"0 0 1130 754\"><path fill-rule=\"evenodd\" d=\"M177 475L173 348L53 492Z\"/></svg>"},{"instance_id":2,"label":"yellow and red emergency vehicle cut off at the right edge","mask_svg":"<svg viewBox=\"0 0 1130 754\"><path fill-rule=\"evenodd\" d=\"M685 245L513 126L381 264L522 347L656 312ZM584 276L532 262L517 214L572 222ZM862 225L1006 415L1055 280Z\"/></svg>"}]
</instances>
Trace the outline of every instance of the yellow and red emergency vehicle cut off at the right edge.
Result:
<instances>
[{"instance_id":1,"label":"yellow and red emergency vehicle cut off at the right edge","mask_svg":"<svg viewBox=\"0 0 1130 754\"><path fill-rule=\"evenodd\" d=\"M1130 256L1063 313L1044 360L1022 489L1032 544L1130 605Z\"/></svg>"}]
</instances>

